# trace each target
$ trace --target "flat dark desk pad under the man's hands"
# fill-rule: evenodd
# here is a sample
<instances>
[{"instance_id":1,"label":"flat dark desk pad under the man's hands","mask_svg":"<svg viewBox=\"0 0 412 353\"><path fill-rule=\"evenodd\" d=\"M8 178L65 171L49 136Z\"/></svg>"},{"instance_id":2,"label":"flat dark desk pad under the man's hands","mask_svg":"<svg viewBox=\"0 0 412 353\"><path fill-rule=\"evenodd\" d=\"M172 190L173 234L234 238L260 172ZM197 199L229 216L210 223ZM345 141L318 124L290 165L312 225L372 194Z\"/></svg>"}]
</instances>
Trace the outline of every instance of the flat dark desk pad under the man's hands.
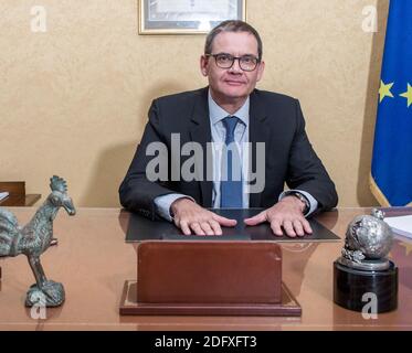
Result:
<instances>
[{"instance_id":1,"label":"flat dark desk pad under the man's hands","mask_svg":"<svg viewBox=\"0 0 412 353\"><path fill-rule=\"evenodd\" d=\"M340 238L316 220L309 220L314 231L311 235L304 237L290 238L286 235L276 236L272 233L268 223L257 226L246 226L243 223L244 218L252 217L260 213L263 208L226 208L211 210L216 214L236 220L235 227L222 227L223 235L221 236L197 236L183 235L175 224L167 221L150 221L137 214L130 215L129 226L126 233L126 242L144 242L144 240L246 240L246 242L336 242Z\"/></svg>"}]
</instances>

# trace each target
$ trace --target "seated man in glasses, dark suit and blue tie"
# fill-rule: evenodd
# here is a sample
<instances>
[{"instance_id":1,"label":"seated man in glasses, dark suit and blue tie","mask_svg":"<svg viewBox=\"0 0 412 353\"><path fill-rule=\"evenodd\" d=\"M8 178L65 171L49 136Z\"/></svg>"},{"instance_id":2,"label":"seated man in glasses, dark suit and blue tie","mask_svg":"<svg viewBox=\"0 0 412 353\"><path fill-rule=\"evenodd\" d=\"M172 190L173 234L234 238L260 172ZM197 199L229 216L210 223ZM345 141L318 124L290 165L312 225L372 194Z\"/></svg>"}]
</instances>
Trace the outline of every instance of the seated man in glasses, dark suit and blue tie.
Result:
<instances>
[{"instance_id":1,"label":"seated man in glasses, dark suit and blue tie","mask_svg":"<svg viewBox=\"0 0 412 353\"><path fill-rule=\"evenodd\" d=\"M207 38L200 68L209 87L154 100L140 146L119 189L120 203L148 217L172 221L186 235L221 235L221 226L236 224L207 207L263 207L265 211L244 220L245 224L268 222L278 236L283 231L290 237L310 234L305 216L334 207L338 197L307 139L299 103L255 89L265 68L258 33L242 21L222 22ZM219 148L212 149L212 157L204 152L204 159L197 159L194 165L202 167L198 180L173 178L172 167L183 168L190 158L170 156L177 136L181 145L194 141L203 151L209 142L224 147L250 142L255 169L262 156L256 146L264 143L263 170L256 171L263 174L262 192L247 193L247 163L241 163L243 176L233 178L233 165L237 165L233 160L244 160L242 148L226 157L220 156ZM158 152L166 160L168 178L160 181L147 175L154 142L165 146ZM212 180L207 178L211 165ZM215 173L223 169L228 178L224 172ZM290 190L283 192L285 182Z\"/></svg>"}]
</instances>

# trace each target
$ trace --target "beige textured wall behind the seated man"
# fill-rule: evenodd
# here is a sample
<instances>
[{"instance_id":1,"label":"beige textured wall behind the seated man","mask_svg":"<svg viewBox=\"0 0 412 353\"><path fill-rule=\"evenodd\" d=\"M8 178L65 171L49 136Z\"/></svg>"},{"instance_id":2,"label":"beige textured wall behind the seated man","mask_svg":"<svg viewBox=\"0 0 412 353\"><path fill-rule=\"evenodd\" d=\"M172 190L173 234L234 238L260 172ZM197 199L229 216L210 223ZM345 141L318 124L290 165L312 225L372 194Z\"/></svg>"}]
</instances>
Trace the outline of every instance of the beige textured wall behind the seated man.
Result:
<instances>
[{"instance_id":1,"label":"beige textured wall behind the seated man","mask_svg":"<svg viewBox=\"0 0 412 353\"><path fill-rule=\"evenodd\" d=\"M361 30L377 4L379 31ZM44 6L46 33L30 31ZM340 206L368 190L388 0L247 0L264 41L260 88L300 99ZM49 193L64 176L78 206L118 206L117 189L152 98L207 84L203 35L137 34L137 0L1 0L0 180Z\"/></svg>"}]
</instances>

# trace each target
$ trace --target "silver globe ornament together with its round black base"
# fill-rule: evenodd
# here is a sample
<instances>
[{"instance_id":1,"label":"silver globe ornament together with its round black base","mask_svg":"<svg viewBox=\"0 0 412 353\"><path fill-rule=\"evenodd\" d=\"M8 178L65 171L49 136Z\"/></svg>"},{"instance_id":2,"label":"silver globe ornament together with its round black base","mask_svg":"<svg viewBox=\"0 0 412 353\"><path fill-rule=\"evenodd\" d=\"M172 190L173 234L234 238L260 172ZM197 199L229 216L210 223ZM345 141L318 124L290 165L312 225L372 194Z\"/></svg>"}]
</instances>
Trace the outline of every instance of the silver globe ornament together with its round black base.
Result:
<instances>
[{"instance_id":1,"label":"silver globe ornament together with its round black base","mask_svg":"<svg viewBox=\"0 0 412 353\"><path fill-rule=\"evenodd\" d=\"M398 308L398 267L387 258L393 233L384 213L355 217L348 225L341 256L334 263L334 302L349 310L365 310L365 295L372 296L376 312Z\"/></svg>"}]
</instances>

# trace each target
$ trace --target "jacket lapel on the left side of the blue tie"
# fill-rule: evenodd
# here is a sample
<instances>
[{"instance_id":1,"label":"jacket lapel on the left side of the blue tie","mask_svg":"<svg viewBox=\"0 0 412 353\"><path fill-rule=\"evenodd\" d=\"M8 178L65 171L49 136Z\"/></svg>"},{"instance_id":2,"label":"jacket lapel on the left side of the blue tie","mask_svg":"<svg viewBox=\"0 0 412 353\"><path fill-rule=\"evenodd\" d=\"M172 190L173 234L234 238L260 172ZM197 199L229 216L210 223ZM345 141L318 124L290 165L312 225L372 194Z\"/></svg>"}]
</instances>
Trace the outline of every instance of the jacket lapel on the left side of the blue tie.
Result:
<instances>
[{"instance_id":1,"label":"jacket lapel on the left side of the blue tie","mask_svg":"<svg viewBox=\"0 0 412 353\"><path fill-rule=\"evenodd\" d=\"M209 104L208 104L208 87L200 89L199 95L194 99L192 116L190 120L189 133L192 141L196 141L202 147L202 160L196 160L196 163L203 163L203 175L197 175L200 180L200 191L202 195L202 205L204 207L212 206L212 190L213 182L207 180L207 164L208 156L207 143L212 141L212 132L210 129L210 117L209 117ZM198 156L199 157L199 156ZM211 156L209 156L211 158ZM213 165L212 161L209 161L209 165ZM212 172L212 171L209 171Z\"/></svg>"}]
</instances>

